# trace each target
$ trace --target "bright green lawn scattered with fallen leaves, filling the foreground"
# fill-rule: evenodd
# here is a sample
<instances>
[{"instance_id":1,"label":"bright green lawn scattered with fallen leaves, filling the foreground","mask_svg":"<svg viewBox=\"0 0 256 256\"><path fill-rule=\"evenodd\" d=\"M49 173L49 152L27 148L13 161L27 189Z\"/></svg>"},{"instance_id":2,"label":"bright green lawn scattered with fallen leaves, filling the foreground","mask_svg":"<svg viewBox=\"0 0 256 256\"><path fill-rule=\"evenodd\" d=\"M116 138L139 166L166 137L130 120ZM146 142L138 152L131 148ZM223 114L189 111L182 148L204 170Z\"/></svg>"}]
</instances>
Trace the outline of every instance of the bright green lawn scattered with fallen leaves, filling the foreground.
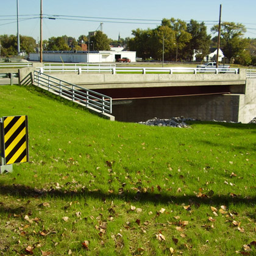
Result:
<instances>
[{"instance_id":1,"label":"bright green lawn scattered with fallen leaves, filling the foreground","mask_svg":"<svg viewBox=\"0 0 256 256\"><path fill-rule=\"evenodd\" d=\"M30 162L0 175L0 255L256 255L254 124L111 122L2 86L9 115Z\"/></svg>"}]
</instances>

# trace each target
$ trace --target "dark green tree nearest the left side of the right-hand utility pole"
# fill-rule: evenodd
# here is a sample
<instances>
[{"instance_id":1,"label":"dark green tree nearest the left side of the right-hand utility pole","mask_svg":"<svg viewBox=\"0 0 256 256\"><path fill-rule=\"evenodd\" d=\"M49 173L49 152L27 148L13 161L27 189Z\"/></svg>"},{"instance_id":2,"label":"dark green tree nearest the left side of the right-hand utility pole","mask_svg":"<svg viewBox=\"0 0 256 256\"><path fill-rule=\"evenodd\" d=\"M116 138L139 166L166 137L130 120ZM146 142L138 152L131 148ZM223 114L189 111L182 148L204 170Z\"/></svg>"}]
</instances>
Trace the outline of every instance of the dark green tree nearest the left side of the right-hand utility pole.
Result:
<instances>
[{"instance_id":1,"label":"dark green tree nearest the left side of the right-hand utility pole","mask_svg":"<svg viewBox=\"0 0 256 256\"><path fill-rule=\"evenodd\" d=\"M191 20L187 24L187 32L191 34L191 40L185 47L184 55L190 56L190 61L194 53L205 57L209 53L211 44L211 35L207 35L207 27L204 22L198 23L197 21Z\"/></svg>"}]
</instances>

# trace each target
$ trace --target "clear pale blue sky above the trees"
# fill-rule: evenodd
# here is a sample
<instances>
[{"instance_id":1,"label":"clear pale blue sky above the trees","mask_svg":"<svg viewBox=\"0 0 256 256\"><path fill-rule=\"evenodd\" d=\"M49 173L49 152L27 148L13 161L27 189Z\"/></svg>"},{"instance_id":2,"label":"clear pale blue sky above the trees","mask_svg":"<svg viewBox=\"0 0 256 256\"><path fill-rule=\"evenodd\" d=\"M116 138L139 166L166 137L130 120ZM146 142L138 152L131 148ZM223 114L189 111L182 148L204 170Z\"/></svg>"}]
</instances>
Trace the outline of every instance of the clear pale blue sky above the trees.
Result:
<instances>
[{"instance_id":1,"label":"clear pale blue sky above the trees","mask_svg":"<svg viewBox=\"0 0 256 256\"><path fill-rule=\"evenodd\" d=\"M20 35L40 39L40 0L0 0L0 35L17 34L17 1ZM219 21L242 23L246 37L256 38L255 0L42 0L43 39L78 38L100 30L108 38L132 37L132 30L154 29L163 18L204 21L210 28ZM53 20L52 18L55 18ZM216 34L215 34L216 35ZM212 36L215 36L212 34Z\"/></svg>"}]
</instances>

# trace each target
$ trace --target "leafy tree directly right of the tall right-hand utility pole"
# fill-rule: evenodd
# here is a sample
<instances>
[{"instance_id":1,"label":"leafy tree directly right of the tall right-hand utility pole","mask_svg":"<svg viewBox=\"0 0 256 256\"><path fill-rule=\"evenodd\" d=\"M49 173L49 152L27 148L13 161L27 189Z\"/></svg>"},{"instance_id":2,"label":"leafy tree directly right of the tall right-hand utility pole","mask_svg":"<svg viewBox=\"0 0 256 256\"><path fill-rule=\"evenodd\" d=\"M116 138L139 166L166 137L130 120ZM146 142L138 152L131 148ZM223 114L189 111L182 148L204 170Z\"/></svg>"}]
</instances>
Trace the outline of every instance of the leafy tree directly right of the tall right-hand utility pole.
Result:
<instances>
[{"instance_id":1,"label":"leafy tree directly right of the tall right-hand utility pole","mask_svg":"<svg viewBox=\"0 0 256 256\"><path fill-rule=\"evenodd\" d=\"M218 25L212 27L212 32L218 32ZM221 24L221 42L220 47L223 54L228 59L235 59L243 55L244 49L247 48L249 41L243 38L246 28L243 24L224 22Z\"/></svg>"}]
</instances>

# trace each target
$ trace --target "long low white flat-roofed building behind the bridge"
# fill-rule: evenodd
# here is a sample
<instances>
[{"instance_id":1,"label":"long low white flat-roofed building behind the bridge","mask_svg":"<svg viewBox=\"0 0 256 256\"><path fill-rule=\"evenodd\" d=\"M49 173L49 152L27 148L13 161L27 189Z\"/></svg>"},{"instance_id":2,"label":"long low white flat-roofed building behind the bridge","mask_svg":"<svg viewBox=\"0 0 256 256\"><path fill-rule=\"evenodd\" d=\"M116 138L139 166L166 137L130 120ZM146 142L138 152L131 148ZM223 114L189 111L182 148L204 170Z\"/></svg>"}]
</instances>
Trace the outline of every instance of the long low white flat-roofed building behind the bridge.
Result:
<instances>
[{"instance_id":1,"label":"long low white flat-roofed building behind the bridge","mask_svg":"<svg viewBox=\"0 0 256 256\"><path fill-rule=\"evenodd\" d=\"M119 48L115 51L49 51L43 52L43 62L68 62L68 63L104 63L116 62L119 58L129 58L131 62L136 62L136 52L122 51ZM121 50L121 51L120 51ZM30 61L40 61L40 55L37 53L29 54Z\"/></svg>"}]
</instances>

